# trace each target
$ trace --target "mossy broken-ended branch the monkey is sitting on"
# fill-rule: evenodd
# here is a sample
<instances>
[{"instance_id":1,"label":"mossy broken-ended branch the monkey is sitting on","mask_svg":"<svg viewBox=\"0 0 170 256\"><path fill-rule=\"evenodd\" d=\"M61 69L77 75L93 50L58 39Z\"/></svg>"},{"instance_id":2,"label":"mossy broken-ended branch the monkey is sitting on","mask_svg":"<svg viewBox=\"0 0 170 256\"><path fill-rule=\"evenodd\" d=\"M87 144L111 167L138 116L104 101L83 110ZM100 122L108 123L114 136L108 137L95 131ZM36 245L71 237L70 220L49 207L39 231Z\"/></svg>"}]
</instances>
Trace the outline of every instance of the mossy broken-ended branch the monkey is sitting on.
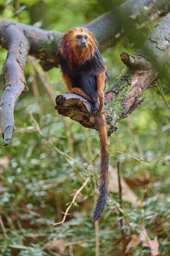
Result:
<instances>
[{"instance_id":1,"label":"mossy broken-ended branch the monkey is sitting on","mask_svg":"<svg viewBox=\"0 0 170 256\"><path fill-rule=\"evenodd\" d=\"M119 77L105 92L104 112L109 126L109 135L117 129L118 121L127 117L143 101L140 99L142 93L148 88L156 86L159 71L164 67L169 56L169 24L170 13L163 17L155 29L148 34L144 45L136 54L121 54L121 60L128 67L123 69ZM56 108L59 114L69 116L85 127L97 129L95 123L92 125L94 117L90 112L90 103L87 108L87 103L84 101L75 94L74 97L72 94L62 94L56 98ZM70 106L74 107L72 111L68 111ZM76 116L77 110L78 117Z\"/></svg>"}]
</instances>

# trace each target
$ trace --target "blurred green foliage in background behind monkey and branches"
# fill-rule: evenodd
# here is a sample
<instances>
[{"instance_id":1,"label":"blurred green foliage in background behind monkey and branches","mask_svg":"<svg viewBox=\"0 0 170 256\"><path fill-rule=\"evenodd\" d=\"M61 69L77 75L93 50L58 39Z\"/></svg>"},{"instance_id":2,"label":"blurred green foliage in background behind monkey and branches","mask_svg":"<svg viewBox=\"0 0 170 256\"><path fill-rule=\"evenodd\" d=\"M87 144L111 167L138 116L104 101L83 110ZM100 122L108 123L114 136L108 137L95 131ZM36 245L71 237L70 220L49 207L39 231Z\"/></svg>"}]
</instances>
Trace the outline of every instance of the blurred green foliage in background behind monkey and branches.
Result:
<instances>
[{"instance_id":1,"label":"blurred green foliage in background behind monkey and branches","mask_svg":"<svg viewBox=\"0 0 170 256\"><path fill-rule=\"evenodd\" d=\"M114 1L108 1L113 3ZM69 27L82 26L110 10L102 1L92 0L1 0L0 19L13 20L47 30L65 32ZM154 24L155 26L156 24ZM103 54L110 71L109 84L120 74L124 65L120 53L131 54L144 40L151 25L125 34L121 42ZM131 32L131 31L130 31ZM138 40L134 40L138 38ZM0 72L7 51L0 50ZM169 102L169 64L161 72L159 85ZM44 73L39 61L29 57L26 65L26 81L29 91L23 93L15 105L15 132L9 146L1 144L1 255L3 256L94 256L97 229L100 254L121 255L121 245L114 245L121 237L119 199L117 194L108 197L108 205L100 224L94 229L91 222L94 208L94 189L98 184L99 150L98 133L83 128L77 122L57 114L54 102L47 92L55 96L65 92L59 68ZM39 79L44 77L45 83ZM2 77L1 77L1 84ZM0 94L3 93L3 86ZM169 234L169 109L157 88L144 92L142 103L128 118L120 121L118 130L110 139L110 165L117 172L121 162L121 174L125 179L134 178L149 182L137 185L127 197L141 200L140 207L123 201L124 232L140 233L144 225L151 239L158 236L162 256L168 255ZM36 130L34 120L44 133ZM49 144L48 139L53 142ZM60 152L72 156L65 161ZM96 158L95 158L96 157ZM94 160L95 161L91 161ZM75 162L79 161L81 164ZM143 160L143 162L141 162ZM88 164L91 161L91 164ZM87 177L90 182L81 190L65 223L59 222L72 201L73 195ZM128 186L127 186L128 188ZM114 188L112 188L112 191ZM98 225L98 224L96 224ZM56 243L55 243L56 241ZM53 245L53 243L55 245ZM114 254L115 249L115 254ZM116 252L118 251L118 254ZM150 255L150 250L140 245L131 250L133 256ZM127 254L128 255L128 254Z\"/></svg>"}]
</instances>

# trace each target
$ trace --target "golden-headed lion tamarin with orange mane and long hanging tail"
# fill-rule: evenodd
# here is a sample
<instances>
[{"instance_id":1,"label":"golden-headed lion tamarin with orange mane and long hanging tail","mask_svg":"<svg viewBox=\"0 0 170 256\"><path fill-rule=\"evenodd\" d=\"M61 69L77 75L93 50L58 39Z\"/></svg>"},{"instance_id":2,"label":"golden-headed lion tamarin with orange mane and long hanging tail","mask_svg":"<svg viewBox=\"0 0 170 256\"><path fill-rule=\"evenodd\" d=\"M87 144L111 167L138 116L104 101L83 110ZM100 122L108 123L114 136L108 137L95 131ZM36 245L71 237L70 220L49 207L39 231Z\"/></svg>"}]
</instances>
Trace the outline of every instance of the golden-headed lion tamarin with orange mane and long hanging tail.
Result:
<instances>
[{"instance_id":1,"label":"golden-headed lion tamarin with orange mane and long hanging tail","mask_svg":"<svg viewBox=\"0 0 170 256\"><path fill-rule=\"evenodd\" d=\"M98 51L98 42L86 27L69 29L62 35L58 45L58 57L62 77L69 93L78 94L92 103L98 129L101 162L99 197L92 221L100 218L107 200L108 135L105 115L101 112L105 101L105 84L109 72Z\"/></svg>"}]
</instances>

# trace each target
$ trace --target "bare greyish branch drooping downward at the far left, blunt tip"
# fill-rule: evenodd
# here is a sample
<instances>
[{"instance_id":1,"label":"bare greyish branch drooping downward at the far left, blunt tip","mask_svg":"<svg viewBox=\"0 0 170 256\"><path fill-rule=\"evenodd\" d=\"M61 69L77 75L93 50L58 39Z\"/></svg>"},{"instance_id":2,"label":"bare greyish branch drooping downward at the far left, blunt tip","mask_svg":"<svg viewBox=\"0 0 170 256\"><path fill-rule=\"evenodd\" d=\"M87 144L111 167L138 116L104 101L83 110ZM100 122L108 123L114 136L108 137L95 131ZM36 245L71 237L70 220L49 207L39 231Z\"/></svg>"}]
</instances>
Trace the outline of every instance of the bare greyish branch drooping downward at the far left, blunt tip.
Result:
<instances>
[{"instance_id":1,"label":"bare greyish branch drooping downward at the far left, blunt tip","mask_svg":"<svg viewBox=\"0 0 170 256\"><path fill-rule=\"evenodd\" d=\"M26 58L29 52L29 43L26 36L15 25L6 27L6 37L11 38L9 42L7 60L3 67L4 93L0 101L1 129L4 146L9 144L13 130L13 108L15 102L23 91L28 90L24 76ZM26 43L26 47L22 43Z\"/></svg>"}]
</instances>

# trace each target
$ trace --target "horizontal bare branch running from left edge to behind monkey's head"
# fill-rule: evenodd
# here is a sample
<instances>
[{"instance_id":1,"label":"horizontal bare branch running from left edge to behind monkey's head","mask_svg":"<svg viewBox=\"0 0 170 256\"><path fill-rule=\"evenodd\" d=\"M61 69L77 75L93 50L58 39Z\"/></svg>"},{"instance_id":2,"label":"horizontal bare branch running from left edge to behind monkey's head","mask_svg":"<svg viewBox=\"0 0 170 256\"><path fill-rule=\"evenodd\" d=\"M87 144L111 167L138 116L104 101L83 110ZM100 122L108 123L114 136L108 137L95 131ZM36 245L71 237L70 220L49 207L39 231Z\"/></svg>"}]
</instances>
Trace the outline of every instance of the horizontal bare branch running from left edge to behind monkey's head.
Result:
<instances>
[{"instance_id":1,"label":"horizontal bare branch running from left edge to behind monkey's head","mask_svg":"<svg viewBox=\"0 0 170 256\"><path fill-rule=\"evenodd\" d=\"M0 45L3 48L8 49L9 43L15 43L10 34L6 34L7 27L13 24L13 31L15 31L17 42L20 42L17 36L17 31L23 34L23 37L27 39L30 50L29 54L42 60L43 69L46 71L52 67L56 67L59 64L57 57L57 44L60 36L63 34L57 31L46 31L33 26L13 22L10 20L0 21ZM26 42L22 40L23 47L26 47Z\"/></svg>"}]
</instances>

